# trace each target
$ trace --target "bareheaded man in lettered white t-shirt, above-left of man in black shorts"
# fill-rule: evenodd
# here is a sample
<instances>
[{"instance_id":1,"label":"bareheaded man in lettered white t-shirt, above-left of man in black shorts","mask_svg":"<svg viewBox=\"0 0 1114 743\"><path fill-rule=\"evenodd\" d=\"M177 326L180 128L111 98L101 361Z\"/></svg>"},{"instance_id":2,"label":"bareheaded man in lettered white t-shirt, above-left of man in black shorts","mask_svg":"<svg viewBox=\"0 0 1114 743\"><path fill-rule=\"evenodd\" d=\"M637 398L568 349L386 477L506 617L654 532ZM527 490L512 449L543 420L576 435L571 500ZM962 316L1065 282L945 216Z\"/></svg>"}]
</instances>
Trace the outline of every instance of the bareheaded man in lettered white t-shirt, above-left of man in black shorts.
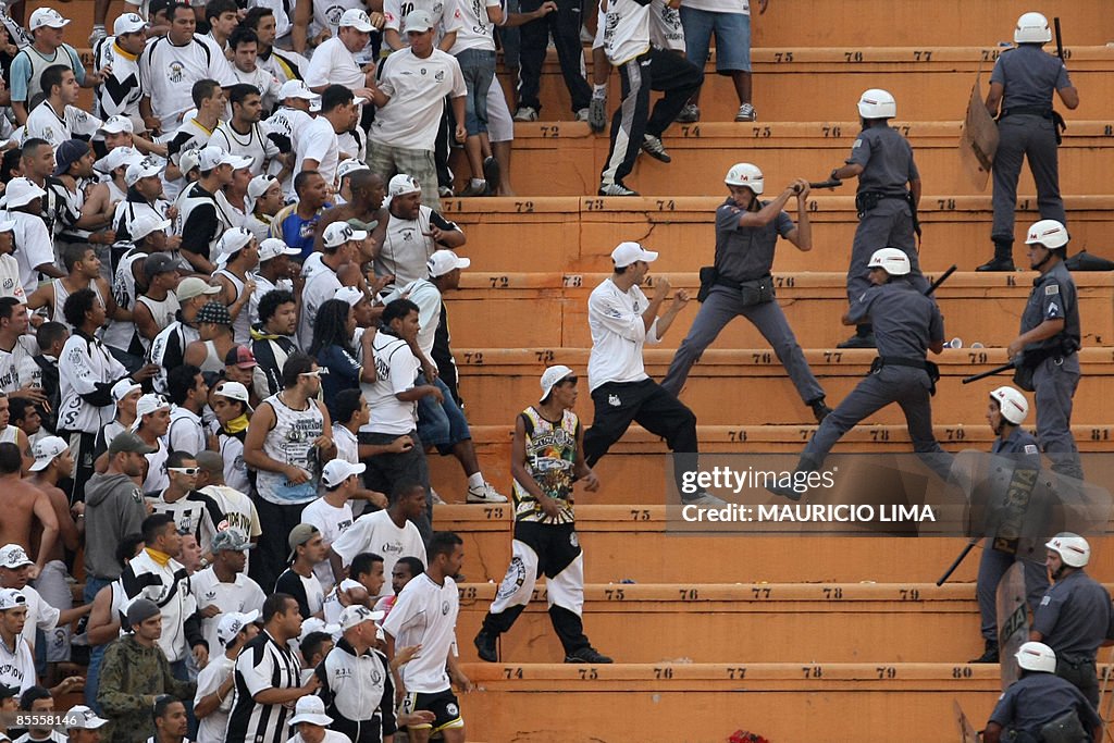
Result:
<instances>
[{"instance_id":1,"label":"bareheaded man in lettered white t-shirt, above-left of man in black shorts","mask_svg":"<svg viewBox=\"0 0 1114 743\"><path fill-rule=\"evenodd\" d=\"M330 545L333 573L343 575L360 553L381 555L388 575L402 557L416 557L424 565L426 544L414 526L424 512L426 489L413 480L399 482L385 510L364 514Z\"/></svg>"}]
</instances>

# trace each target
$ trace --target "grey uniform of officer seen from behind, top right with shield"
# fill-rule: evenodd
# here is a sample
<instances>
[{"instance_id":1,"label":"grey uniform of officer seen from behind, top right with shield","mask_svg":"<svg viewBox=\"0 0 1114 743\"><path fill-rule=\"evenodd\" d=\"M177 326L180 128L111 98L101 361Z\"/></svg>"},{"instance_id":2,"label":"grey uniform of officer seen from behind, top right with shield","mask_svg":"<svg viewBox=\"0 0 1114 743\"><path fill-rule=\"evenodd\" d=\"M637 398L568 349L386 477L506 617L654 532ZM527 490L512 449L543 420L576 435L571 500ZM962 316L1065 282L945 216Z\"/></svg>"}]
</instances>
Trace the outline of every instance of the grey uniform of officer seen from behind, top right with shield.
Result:
<instances>
[{"instance_id":1,"label":"grey uniform of officer seen from behind, top right with shield","mask_svg":"<svg viewBox=\"0 0 1114 743\"><path fill-rule=\"evenodd\" d=\"M1023 43L1001 52L990 74L990 82L1005 87L998 118L998 149L994 156L994 226L990 238L995 244L1012 246L1017 177L1025 157L1028 157L1037 186L1040 218L1067 224L1064 199L1059 196L1052 97L1055 90L1071 88L1072 81L1064 62L1045 53L1042 45Z\"/></svg>"}]
</instances>

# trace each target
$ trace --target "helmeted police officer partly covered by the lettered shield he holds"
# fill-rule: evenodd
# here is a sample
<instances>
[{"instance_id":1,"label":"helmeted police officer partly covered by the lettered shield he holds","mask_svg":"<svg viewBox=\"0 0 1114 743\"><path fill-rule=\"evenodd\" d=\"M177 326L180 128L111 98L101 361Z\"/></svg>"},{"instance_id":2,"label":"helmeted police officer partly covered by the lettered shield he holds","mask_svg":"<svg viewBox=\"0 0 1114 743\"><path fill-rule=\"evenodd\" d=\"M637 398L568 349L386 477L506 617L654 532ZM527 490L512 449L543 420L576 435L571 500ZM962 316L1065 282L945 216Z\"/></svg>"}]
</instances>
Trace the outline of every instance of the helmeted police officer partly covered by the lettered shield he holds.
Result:
<instances>
[{"instance_id":1,"label":"helmeted police officer partly covered by the lettered shield he holds","mask_svg":"<svg viewBox=\"0 0 1114 743\"><path fill-rule=\"evenodd\" d=\"M986 420L997 437L990 453L1010 460L1015 468L1040 469L1040 450L1033 434L1022 429L1028 416L1029 403L1025 395L1012 387L999 387L990 392ZM1008 485L1008 481L1004 485ZM1003 496L1005 493L994 493ZM1035 504L1033 505L1035 506ZM1020 515L1024 518L1024 514ZM1009 514L1003 515L1003 519ZM1035 613L1040 598L1048 590L1048 573L1037 551L1039 542L1026 538L1004 538L995 535L983 545L983 559L978 564L975 594L983 619L983 655L970 663L998 663L998 606L997 592L1001 577L1017 560L1025 568L1025 590L1029 608Z\"/></svg>"}]
</instances>

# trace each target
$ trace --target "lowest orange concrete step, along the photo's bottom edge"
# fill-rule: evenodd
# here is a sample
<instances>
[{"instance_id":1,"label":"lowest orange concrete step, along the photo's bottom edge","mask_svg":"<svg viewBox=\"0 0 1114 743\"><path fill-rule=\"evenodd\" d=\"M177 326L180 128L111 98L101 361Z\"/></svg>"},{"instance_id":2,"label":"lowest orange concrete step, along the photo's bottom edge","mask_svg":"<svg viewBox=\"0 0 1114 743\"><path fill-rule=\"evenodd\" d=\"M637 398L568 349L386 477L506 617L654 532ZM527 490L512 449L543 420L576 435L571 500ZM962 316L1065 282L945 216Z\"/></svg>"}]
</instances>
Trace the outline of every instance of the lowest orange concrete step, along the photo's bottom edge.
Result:
<instances>
[{"instance_id":1,"label":"lowest orange concrete step, along the photo's bottom edge","mask_svg":"<svg viewBox=\"0 0 1114 743\"><path fill-rule=\"evenodd\" d=\"M719 743L740 729L771 741L939 743L958 739L952 700L981 727L1000 693L994 665L739 661L463 671L480 688L461 696L469 735L530 743Z\"/></svg>"}]
</instances>

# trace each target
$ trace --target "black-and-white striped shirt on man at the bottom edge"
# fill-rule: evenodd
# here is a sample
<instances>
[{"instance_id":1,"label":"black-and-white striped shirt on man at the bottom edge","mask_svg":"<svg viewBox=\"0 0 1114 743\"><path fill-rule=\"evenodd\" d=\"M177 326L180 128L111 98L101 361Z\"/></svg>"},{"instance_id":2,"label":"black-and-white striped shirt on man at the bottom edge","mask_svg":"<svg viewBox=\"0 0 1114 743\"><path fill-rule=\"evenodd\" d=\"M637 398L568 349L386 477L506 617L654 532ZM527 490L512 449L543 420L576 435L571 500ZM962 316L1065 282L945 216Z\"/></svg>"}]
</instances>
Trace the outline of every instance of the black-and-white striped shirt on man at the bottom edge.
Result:
<instances>
[{"instance_id":1,"label":"black-and-white striped shirt on man at the bottom edge","mask_svg":"<svg viewBox=\"0 0 1114 743\"><path fill-rule=\"evenodd\" d=\"M254 696L268 688L301 686L301 673L297 656L266 630L245 645L236 658L236 696L225 740L286 743L293 710L283 704L256 704Z\"/></svg>"}]
</instances>

